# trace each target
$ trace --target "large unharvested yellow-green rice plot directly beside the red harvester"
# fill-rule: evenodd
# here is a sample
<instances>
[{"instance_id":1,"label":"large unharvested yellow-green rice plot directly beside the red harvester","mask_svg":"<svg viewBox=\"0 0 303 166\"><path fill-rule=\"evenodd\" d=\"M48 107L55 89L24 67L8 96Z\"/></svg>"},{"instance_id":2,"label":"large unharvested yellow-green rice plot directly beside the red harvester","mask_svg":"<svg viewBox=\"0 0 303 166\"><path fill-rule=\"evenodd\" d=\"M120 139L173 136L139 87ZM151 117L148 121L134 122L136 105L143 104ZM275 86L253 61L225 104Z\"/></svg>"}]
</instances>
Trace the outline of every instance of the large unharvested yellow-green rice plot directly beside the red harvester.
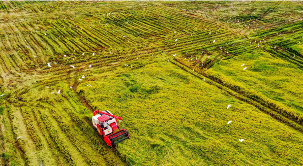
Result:
<instances>
[{"instance_id":1,"label":"large unharvested yellow-green rice plot directly beside the red harvester","mask_svg":"<svg viewBox=\"0 0 303 166\"><path fill-rule=\"evenodd\" d=\"M123 117L131 133L117 148L130 165L303 163L302 133L171 63L90 84L77 91L91 106Z\"/></svg>"}]
</instances>

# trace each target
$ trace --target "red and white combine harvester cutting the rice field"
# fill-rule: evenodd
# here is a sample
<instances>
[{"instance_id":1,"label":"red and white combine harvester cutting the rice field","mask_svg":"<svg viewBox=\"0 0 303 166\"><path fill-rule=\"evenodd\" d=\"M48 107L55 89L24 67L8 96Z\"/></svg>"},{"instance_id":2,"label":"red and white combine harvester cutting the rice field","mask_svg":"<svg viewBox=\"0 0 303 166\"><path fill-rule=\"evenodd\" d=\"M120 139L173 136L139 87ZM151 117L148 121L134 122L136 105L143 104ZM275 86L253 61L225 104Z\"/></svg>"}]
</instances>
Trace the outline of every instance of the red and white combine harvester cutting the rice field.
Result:
<instances>
[{"instance_id":1,"label":"red and white combine harvester cutting the rice field","mask_svg":"<svg viewBox=\"0 0 303 166\"><path fill-rule=\"evenodd\" d=\"M118 142L130 138L127 130L119 130L118 119L122 118L113 115L109 111L93 111L92 125L97 128L98 133L104 136L104 141L110 147L115 146Z\"/></svg>"}]
</instances>

